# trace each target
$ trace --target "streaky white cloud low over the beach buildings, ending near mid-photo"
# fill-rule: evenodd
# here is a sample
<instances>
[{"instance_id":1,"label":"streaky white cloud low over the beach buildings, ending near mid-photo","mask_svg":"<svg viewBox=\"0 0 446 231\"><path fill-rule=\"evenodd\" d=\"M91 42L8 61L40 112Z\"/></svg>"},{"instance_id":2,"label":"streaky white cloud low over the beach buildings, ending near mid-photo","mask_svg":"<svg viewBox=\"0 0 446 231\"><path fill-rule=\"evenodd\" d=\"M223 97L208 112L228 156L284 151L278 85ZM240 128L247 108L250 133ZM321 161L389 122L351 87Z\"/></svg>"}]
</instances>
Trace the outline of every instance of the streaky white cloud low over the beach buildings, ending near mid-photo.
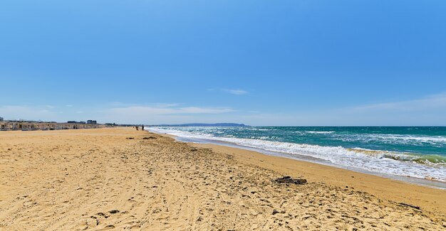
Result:
<instances>
[{"instance_id":1,"label":"streaky white cloud low over the beach buildings, ending near mid-photo","mask_svg":"<svg viewBox=\"0 0 446 231\"><path fill-rule=\"evenodd\" d=\"M68 120L95 119L99 122L118 123L182 123L205 122L224 119L229 112L235 112L229 107L180 107L179 104L152 104L150 106L135 106L135 104L120 104L115 107L82 108L75 112L61 112L57 107L47 105L37 106L0 106L0 117L5 119L26 119L65 122ZM220 115L220 116L219 116ZM221 120L220 120L221 119Z\"/></svg>"}]
</instances>

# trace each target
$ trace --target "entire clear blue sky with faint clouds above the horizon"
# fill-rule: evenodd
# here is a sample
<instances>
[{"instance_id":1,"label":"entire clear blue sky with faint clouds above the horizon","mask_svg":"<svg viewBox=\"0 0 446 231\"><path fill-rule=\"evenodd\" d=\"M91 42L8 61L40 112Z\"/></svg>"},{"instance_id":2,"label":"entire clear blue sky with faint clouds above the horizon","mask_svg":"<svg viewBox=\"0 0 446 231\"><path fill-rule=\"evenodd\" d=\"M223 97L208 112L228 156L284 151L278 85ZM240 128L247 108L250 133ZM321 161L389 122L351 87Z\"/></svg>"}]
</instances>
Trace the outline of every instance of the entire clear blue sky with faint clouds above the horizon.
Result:
<instances>
[{"instance_id":1,"label":"entire clear blue sky with faint clouds above the horizon","mask_svg":"<svg viewBox=\"0 0 446 231\"><path fill-rule=\"evenodd\" d=\"M0 117L446 125L445 1L2 1Z\"/></svg>"}]
</instances>

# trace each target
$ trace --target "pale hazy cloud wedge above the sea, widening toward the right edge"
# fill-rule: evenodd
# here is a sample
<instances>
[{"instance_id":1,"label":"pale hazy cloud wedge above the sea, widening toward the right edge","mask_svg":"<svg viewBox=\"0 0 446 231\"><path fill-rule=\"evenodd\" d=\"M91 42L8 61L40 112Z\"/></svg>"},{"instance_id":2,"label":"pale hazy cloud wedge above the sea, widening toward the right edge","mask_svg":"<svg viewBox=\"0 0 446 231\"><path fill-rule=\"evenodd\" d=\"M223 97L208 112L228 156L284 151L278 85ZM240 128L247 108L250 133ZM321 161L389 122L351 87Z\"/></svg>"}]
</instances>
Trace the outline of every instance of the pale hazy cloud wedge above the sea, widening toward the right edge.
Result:
<instances>
[{"instance_id":1,"label":"pale hazy cloud wedge above the sea, widening toward the right edge","mask_svg":"<svg viewBox=\"0 0 446 231\"><path fill-rule=\"evenodd\" d=\"M240 116L251 125L294 126L445 126L446 93L414 100L383 102L299 113Z\"/></svg>"}]
</instances>

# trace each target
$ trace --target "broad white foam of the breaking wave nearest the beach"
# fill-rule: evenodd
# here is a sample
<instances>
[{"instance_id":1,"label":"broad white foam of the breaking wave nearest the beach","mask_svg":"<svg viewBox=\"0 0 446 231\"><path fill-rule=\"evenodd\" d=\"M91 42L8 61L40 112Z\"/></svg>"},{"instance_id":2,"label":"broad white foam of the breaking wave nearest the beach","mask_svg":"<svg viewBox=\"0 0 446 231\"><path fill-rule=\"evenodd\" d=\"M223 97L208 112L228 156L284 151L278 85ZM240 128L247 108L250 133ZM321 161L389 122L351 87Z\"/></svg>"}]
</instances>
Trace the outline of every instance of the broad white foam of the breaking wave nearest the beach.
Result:
<instances>
[{"instance_id":1,"label":"broad white foam of the breaking wave nearest the beach","mask_svg":"<svg viewBox=\"0 0 446 231\"><path fill-rule=\"evenodd\" d=\"M274 151L289 154L291 157L310 156L324 161L330 161L337 166L360 168L375 173L386 173L397 176L411 176L415 178L431 178L446 182L445 164L421 164L415 161L413 155L390 152L372 151L368 149L345 149L341 146L318 146L310 144L294 144L264 139L239 139L234 137L220 137L194 131L180 131L176 129L150 128L151 131L172 134L189 139L211 139L230 142L239 146ZM388 158L390 156L390 158ZM401 161L405 160L405 161Z\"/></svg>"}]
</instances>

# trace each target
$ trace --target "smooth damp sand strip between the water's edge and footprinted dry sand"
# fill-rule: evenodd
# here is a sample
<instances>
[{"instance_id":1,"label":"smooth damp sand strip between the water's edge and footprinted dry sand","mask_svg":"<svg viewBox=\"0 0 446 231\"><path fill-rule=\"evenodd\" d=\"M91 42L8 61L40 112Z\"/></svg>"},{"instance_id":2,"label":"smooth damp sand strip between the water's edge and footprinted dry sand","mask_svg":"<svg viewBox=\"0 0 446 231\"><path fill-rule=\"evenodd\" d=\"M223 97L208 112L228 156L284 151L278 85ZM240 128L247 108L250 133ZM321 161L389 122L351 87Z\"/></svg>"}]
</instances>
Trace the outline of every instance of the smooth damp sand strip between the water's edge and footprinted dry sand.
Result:
<instances>
[{"instance_id":1,"label":"smooth damp sand strip between the water's edge and footprinted dry sand","mask_svg":"<svg viewBox=\"0 0 446 231\"><path fill-rule=\"evenodd\" d=\"M298 177L296 173L301 173L304 178L310 179L311 181L322 181L340 188L353 188L354 190L361 190L372 195L379 195L387 200L405 201L405 203L415 203L418 205L422 204L422 207L427 208L427 210L440 211L446 214L446 200L444 200L446 198L445 188L377 176L372 173L353 171L351 169L324 165L322 163L291 159L285 156L273 156L253 150L250 147L247 147L248 149L242 149L237 145L199 144L192 141L180 140L180 136L172 134L148 132L166 136L198 148L212 149L212 151L221 154L232 154L238 161L277 171L284 176ZM429 181L424 179L420 180Z\"/></svg>"}]
</instances>

